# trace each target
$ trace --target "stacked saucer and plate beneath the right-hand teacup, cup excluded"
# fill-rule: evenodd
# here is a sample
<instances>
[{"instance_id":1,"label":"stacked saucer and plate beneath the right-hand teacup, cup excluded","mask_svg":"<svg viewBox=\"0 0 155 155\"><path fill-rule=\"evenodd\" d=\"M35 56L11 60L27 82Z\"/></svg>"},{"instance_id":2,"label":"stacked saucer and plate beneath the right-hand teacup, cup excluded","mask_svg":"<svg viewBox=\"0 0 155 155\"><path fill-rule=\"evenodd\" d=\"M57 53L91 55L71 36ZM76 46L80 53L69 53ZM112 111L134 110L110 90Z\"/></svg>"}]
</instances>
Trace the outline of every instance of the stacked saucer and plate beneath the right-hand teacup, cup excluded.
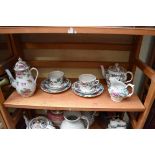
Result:
<instances>
[{"instance_id":1,"label":"stacked saucer and plate beneath the right-hand teacup, cup excluded","mask_svg":"<svg viewBox=\"0 0 155 155\"><path fill-rule=\"evenodd\" d=\"M80 87L78 87L78 82L74 82L72 84L72 90L76 95L81 97L96 97L103 93L104 87L101 83L99 83L98 85L96 85L94 91L85 93L80 89Z\"/></svg>"}]
</instances>

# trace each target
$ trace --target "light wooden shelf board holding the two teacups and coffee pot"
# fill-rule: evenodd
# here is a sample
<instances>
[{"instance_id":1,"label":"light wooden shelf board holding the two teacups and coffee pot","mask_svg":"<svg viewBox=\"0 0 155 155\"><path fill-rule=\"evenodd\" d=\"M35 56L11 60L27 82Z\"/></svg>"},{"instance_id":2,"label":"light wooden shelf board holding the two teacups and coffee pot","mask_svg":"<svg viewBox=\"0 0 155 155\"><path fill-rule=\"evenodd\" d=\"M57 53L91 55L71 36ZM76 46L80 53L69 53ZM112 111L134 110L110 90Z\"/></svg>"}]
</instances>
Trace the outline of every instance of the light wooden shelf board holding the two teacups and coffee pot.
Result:
<instances>
[{"instance_id":1,"label":"light wooden shelf board holding the two teacups and coffee pot","mask_svg":"<svg viewBox=\"0 0 155 155\"><path fill-rule=\"evenodd\" d=\"M4 102L5 107L48 110L75 110L75 111L144 111L145 107L137 95L126 98L120 103L110 99L107 87L104 92L95 98L83 98L75 95L71 89L60 94L48 94L40 88L29 98L23 98L14 91Z\"/></svg>"}]
</instances>

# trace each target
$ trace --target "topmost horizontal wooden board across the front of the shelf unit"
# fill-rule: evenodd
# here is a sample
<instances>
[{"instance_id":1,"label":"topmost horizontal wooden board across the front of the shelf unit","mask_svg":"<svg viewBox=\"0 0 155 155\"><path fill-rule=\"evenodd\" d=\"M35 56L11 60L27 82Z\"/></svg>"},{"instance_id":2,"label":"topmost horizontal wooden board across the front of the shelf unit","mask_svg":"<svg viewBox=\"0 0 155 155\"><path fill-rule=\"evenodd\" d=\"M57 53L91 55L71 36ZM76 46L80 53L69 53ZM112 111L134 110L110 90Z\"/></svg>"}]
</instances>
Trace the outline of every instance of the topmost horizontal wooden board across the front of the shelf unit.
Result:
<instances>
[{"instance_id":1,"label":"topmost horizontal wooden board across the front of the shelf unit","mask_svg":"<svg viewBox=\"0 0 155 155\"><path fill-rule=\"evenodd\" d=\"M0 27L1 34L18 33L67 33L70 27L27 26ZM78 34L126 34L126 35L155 35L154 27L73 27ZM74 34L76 35L76 34Z\"/></svg>"}]
</instances>

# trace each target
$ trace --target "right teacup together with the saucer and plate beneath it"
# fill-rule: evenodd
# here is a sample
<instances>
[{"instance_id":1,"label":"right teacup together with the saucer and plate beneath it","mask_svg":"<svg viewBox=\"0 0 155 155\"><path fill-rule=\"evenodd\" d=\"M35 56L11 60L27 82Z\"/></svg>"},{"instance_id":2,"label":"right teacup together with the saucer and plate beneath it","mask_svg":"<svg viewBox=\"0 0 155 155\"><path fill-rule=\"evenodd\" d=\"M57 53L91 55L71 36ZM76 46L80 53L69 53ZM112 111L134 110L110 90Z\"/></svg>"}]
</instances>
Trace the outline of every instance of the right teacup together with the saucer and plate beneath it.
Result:
<instances>
[{"instance_id":1,"label":"right teacup together with the saucer and plate beneath it","mask_svg":"<svg viewBox=\"0 0 155 155\"><path fill-rule=\"evenodd\" d=\"M103 93L104 87L93 74L82 74L79 80L72 84L72 90L82 97L96 97Z\"/></svg>"}]
</instances>

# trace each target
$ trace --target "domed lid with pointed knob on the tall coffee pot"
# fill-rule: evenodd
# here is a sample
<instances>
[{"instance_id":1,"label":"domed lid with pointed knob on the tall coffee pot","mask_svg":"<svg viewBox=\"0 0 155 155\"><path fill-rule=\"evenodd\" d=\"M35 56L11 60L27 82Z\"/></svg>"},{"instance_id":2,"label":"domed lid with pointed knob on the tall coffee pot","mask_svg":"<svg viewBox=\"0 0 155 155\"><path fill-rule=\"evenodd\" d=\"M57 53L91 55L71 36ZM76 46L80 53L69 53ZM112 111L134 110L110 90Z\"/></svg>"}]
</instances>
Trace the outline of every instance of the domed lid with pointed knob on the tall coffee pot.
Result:
<instances>
[{"instance_id":1,"label":"domed lid with pointed knob on the tall coffee pot","mask_svg":"<svg viewBox=\"0 0 155 155\"><path fill-rule=\"evenodd\" d=\"M15 71L23 71L28 69L29 66L25 61L23 61L21 58L18 59L18 62L15 64L14 70Z\"/></svg>"}]
</instances>

